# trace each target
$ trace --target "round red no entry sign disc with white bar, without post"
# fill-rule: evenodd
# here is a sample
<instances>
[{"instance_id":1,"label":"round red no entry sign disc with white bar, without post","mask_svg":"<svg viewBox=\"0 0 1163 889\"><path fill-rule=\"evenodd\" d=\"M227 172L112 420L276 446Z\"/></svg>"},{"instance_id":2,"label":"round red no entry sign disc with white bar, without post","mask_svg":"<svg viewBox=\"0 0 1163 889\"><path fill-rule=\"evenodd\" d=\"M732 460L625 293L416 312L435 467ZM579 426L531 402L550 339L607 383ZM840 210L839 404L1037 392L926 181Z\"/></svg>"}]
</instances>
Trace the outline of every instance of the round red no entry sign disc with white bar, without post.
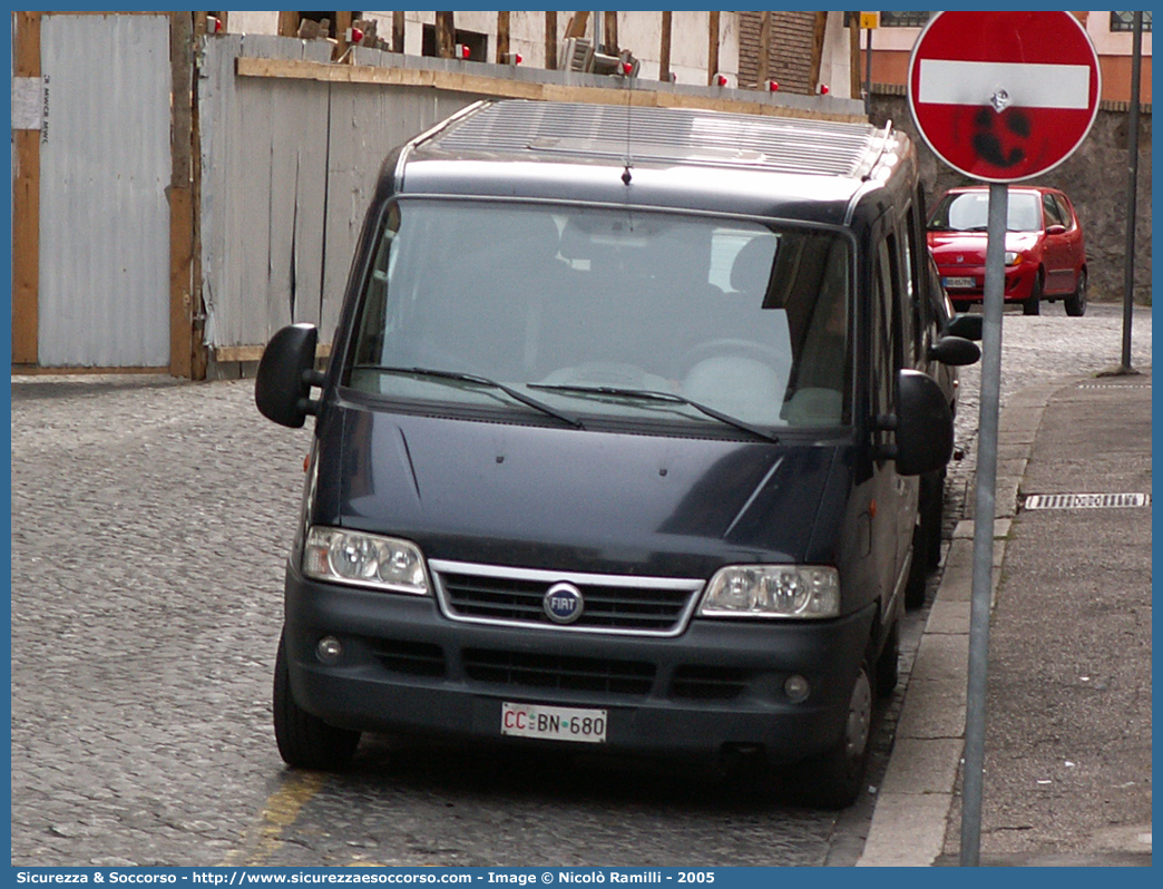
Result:
<instances>
[{"instance_id":1,"label":"round red no entry sign disc with white bar, without post","mask_svg":"<svg viewBox=\"0 0 1163 889\"><path fill-rule=\"evenodd\" d=\"M1098 55L1070 13L946 12L908 62L908 104L937 156L975 179L1028 179L1086 137Z\"/></svg>"}]
</instances>

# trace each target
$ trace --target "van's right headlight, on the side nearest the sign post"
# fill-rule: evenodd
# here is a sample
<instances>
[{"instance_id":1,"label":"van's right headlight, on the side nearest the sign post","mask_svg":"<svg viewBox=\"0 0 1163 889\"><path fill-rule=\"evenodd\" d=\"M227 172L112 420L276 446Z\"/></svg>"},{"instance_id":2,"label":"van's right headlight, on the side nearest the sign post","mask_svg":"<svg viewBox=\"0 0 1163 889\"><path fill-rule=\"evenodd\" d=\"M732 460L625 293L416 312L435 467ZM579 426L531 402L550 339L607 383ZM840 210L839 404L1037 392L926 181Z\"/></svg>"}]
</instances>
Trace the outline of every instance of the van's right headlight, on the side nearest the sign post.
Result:
<instances>
[{"instance_id":1,"label":"van's right headlight, on the side nearest the sign post","mask_svg":"<svg viewBox=\"0 0 1163 889\"><path fill-rule=\"evenodd\" d=\"M705 618L834 618L840 575L818 566L744 564L720 568L699 605Z\"/></svg>"}]
</instances>

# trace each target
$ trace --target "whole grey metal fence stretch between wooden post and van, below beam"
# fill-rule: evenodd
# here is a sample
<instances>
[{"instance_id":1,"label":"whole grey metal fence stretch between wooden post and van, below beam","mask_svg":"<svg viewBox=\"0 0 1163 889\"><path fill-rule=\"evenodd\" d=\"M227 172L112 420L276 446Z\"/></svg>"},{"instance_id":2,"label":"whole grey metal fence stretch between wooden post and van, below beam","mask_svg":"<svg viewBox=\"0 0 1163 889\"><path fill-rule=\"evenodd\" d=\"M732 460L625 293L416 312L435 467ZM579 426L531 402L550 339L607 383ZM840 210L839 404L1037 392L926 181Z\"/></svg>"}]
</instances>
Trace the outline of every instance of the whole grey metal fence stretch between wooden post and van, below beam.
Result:
<instances>
[{"instance_id":1,"label":"whole grey metal fence stretch between wooden post and van, below beam","mask_svg":"<svg viewBox=\"0 0 1163 889\"><path fill-rule=\"evenodd\" d=\"M263 344L291 321L319 325L330 342L384 157L476 100L234 76L240 55L326 61L322 52L329 43L285 37L206 42L201 237L212 348Z\"/></svg>"}]
</instances>

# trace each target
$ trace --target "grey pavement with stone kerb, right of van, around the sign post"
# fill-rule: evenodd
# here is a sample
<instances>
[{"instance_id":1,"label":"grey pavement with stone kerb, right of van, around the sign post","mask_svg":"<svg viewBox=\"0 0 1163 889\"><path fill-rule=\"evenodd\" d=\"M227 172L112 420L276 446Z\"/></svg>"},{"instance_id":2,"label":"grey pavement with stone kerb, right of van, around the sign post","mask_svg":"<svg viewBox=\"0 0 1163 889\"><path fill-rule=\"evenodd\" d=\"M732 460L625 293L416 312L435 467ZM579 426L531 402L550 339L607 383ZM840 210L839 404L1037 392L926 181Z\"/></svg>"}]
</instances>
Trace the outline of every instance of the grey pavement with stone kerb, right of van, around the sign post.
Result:
<instances>
[{"instance_id":1,"label":"grey pavement with stone kerb, right of van, around the sign post","mask_svg":"<svg viewBox=\"0 0 1163 889\"><path fill-rule=\"evenodd\" d=\"M1026 508L1150 490L1149 370L1032 387L1003 410L983 865L1151 863L1149 498ZM958 863L972 538L962 521L858 866Z\"/></svg>"}]
</instances>

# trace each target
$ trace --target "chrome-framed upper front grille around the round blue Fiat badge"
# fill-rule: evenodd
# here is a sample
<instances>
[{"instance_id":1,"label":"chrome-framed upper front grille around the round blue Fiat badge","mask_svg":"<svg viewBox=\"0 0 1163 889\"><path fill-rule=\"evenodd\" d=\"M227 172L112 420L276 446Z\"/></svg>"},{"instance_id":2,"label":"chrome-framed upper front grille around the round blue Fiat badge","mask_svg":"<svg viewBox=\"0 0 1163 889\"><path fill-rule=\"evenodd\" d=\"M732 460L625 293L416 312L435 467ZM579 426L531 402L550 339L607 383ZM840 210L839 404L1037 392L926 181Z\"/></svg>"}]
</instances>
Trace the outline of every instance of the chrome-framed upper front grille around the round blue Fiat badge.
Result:
<instances>
[{"instance_id":1,"label":"chrome-framed upper front grille around the round blue Fiat badge","mask_svg":"<svg viewBox=\"0 0 1163 889\"><path fill-rule=\"evenodd\" d=\"M445 612L454 619L647 635L683 630L701 581L561 575L521 569L472 570L471 566L433 563ZM544 600L554 584L572 583L582 593L582 617L568 625L545 614Z\"/></svg>"}]
</instances>

